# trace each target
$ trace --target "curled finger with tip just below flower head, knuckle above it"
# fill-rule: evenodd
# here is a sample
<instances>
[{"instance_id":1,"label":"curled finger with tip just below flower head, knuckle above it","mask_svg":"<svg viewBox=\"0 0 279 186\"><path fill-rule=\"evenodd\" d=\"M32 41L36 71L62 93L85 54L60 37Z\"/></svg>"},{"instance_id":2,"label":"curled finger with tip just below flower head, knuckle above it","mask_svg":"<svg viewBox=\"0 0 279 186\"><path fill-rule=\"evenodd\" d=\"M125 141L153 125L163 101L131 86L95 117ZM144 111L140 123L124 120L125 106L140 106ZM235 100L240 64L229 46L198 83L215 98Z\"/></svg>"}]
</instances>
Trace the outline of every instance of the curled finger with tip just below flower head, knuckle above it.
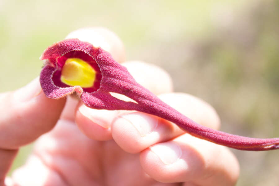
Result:
<instances>
[{"instance_id":1,"label":"curled finger with tip just below flower head, knuckle above it","mask_svg":"<svg viewBox=\"0 0 279 186\"><path fill-rule=\"evenodd\" d=\"M131 75L141 85L154 94L171 92L173 85L170 76L163 69L140 61L131 61L123 64ZM124 98L125 99L125 98ZM131 111L125 113L130 113ZM76 123L89 138L96 140L109 140L111 136L111 123L123 111L96 110L81 105L76 114Z\"/></svg>"}]
</instances>

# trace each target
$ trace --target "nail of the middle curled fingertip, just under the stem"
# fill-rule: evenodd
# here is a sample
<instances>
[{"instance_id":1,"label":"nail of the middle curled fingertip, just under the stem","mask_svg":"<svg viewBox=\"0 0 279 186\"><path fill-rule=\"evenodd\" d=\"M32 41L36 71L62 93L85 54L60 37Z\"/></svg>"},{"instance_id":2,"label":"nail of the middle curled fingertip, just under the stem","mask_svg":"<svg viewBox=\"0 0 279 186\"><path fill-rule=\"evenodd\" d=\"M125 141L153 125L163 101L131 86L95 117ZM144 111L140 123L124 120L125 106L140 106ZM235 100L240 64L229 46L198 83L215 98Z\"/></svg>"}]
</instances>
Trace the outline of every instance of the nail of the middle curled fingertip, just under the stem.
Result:
<instances>
[{"instance_id":1,"label":"nail of the middle curled fingertip, just under the stem","mask_svg":"<svg viewBox=\"0 0 279 186\"><path fill-rule=\"evenodd\" d=\"M129 120L142 137L151 133L158 125L157 117L144 113L131 113L121 117Z\"/></svg>"}]
</instances>

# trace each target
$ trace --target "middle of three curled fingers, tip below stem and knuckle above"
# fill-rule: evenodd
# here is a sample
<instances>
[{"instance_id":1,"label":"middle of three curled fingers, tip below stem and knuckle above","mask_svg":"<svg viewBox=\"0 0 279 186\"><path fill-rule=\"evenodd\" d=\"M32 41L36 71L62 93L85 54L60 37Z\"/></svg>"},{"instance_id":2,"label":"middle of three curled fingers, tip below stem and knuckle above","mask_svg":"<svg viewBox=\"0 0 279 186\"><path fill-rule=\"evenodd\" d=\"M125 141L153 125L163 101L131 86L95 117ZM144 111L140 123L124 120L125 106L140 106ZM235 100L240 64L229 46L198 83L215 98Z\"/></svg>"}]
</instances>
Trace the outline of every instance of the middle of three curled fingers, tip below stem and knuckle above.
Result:
<instances>
[{"instance_id":1,"label":"middle of three curled fingers, tip below stem and knuckle above","mask_svg":"<svg viewBox=\"0 0 279 186\"><path fill-rule=\"evenodd\" d=\"M192 95L168 93L160 95L159 98L201 125L214 129L220 125L214 108ZM185 132L174 123L140 112L118 117L114 120L111 130L115 142L129 153L139 153L153 144Z\"/></svg>"}]
</instances>

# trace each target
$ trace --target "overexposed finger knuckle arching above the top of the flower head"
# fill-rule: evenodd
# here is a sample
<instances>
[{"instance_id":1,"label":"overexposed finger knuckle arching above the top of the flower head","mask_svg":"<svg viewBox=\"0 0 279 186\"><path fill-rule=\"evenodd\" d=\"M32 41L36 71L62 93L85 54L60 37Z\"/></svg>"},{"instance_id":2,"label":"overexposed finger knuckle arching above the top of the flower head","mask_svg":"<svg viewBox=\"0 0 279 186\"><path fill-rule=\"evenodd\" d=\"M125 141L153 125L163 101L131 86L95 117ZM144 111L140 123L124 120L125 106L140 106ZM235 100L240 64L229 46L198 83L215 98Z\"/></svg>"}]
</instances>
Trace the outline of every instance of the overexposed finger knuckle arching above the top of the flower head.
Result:
<instances>
[{"instance_id":1,"label":"overexposed finger knuckle arching above the top of the flower head","mask_svg":"<svg viewBox=\"0 0 279 186\"><path fill-rule=\"evenodd\" d=\"M90 42L94 47L101 47L108 51L118 63L125 61L125 50L118 36L102 27L90 27L75 30L66 38L78 38L81 41Z\"/></svg>"}]
</instances>

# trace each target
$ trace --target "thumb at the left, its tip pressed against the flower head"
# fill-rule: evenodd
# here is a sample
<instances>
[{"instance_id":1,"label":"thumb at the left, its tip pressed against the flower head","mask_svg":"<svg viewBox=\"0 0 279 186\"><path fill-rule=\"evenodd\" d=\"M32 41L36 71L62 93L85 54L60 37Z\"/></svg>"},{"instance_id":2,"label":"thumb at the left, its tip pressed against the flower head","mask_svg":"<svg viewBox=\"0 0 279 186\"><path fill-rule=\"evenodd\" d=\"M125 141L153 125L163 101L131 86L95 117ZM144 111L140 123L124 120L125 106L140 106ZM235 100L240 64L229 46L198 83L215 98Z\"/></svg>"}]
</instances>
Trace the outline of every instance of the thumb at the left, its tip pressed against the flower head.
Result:
<instances>
[{"instance_id":1,"label":"thumb at the left, its tip pressed against the flower head","mask_svg":"<svg viewBox=\"0 0 279 186\"><path fill-rule=\"evenodd\" d=\"M0 94L0 148L17 149L50 131L65 101L47 98L39 78L16 91Z\"/></svg>"}]
</instances>

